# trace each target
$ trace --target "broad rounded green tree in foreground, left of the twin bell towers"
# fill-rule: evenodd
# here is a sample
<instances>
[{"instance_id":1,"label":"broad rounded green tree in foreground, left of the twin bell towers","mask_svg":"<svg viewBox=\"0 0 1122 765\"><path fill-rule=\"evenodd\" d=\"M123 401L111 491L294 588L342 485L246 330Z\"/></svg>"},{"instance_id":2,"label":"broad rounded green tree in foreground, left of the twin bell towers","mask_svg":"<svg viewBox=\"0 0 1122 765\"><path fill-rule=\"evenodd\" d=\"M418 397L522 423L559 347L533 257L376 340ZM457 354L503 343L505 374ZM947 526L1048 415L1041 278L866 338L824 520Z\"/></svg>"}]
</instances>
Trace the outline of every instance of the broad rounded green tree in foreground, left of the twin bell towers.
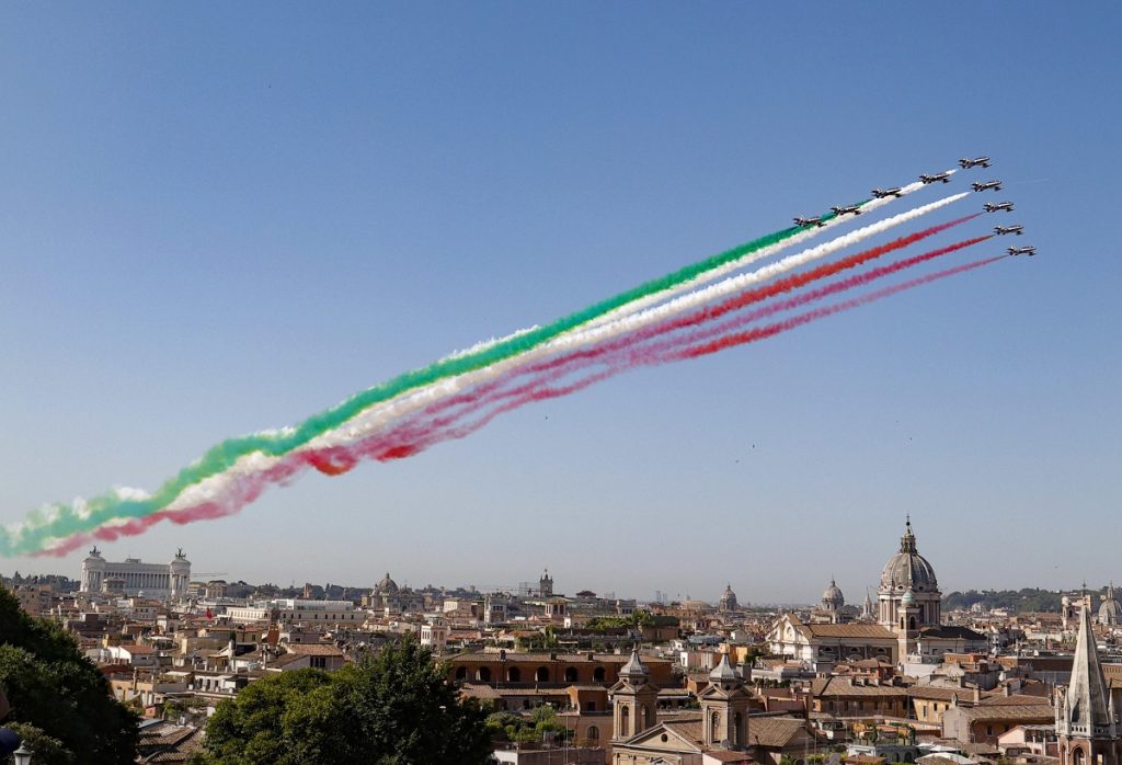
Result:
<instances>
[{"instance_id":1,"label":"broad rounded green tree in foreground, left of the twin bell towers","mask_svg":"<svg viewBox=\"0 0 1122 765\"><path fill-rule=\"evenodd\" d=\"M335 673L285 672L223 701L200 765L482 764L487 716L408 637Z\"/></svg>"}]
</instances>

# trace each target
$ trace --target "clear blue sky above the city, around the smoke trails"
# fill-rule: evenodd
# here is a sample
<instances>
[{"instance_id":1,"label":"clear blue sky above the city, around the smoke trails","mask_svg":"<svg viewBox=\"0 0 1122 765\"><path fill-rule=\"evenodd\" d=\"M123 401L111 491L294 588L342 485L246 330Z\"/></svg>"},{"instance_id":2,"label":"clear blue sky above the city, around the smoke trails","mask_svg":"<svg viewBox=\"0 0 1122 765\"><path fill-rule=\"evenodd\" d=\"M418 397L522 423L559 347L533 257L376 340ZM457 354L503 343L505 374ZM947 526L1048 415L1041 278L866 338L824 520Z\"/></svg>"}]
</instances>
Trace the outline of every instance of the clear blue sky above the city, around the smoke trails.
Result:
<instances>
[{"instance_id":1,"label":"clear blue sky above the city, around the smoke trails","mask_svg":"<svg viewBox=\"0 0 1122 765\"><path fill-rule=\"evenodd\" d=\"M976 179L1006 182L1040 257L104 547L249 581L548 565L570 592L810 600L834 575L859 600L910 511L945 590L1122 579L1120 22L6 4L0 520L154 488L226 436L988 154Z\"/></svg>"}]
</instances>

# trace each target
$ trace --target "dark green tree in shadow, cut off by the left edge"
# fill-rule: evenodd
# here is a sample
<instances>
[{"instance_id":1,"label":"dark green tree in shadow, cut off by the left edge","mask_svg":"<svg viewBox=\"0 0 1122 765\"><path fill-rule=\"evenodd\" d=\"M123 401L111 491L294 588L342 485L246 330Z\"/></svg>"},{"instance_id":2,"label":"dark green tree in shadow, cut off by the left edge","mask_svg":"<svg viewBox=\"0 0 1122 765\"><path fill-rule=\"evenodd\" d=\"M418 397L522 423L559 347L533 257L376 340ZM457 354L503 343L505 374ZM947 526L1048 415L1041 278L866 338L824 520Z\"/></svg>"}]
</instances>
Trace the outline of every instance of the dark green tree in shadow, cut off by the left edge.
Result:
<instances>
[{"instance_id":1,"label":"dark green tree in shadow, cut off by the left edge","mask_svg":"<svg viewBox=\"0 0 1122 765\"><path fill-rule=\"evenodd\" d=\"M125 765L136 757L137 717L58 625L28 616L0 588L0 684L10 723L38 740L42 765ZM17 727L17 725L12 725ZM33 743L34 746L34 743Z\"/></svg>"}]
</instances>

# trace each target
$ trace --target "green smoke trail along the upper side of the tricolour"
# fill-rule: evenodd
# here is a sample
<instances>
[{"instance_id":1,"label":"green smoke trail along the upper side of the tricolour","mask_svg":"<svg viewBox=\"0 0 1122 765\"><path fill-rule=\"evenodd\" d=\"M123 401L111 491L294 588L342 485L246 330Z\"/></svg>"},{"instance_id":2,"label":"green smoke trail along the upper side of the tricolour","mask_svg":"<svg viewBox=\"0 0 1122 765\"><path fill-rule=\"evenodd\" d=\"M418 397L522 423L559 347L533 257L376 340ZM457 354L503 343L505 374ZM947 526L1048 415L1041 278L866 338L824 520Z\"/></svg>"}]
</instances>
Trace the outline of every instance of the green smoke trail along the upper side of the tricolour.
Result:
<instances>
[{"instance_id":1,"label":"green smoke trail along the upper side of the tricolour","mask_svg":"<svg viewBox=\"0 0 1122 765\"><path fill-rule=\"evenodd\" d=\"M861 204L865 203L867 200ZM827 213L821 216L821 220L827 221L835 216L833 213ZM12 556L39 552L54 540L89 532L105 522L116 518L142 517L155 513L169 505L184 489L230 469L239 458L254 452L261 452L268 457L280 457L306 444L318 435L339 427L375 404L528 351L632 301L675 287L714 268L782 242L803 230L800 227L791 227L775 231L622 292L568 316L562 316L552 323L500 340L477 351L448 357L427 367L407 371L380 385L357 393L340 404L307 417L294 427L228 439L209 449L199 460L181 470L154 494L146 497L123 496L117 491L110 491L92 497L82 504L54 504L33 510L21 525L0 528L0 555Z\"/></svg>"}]
</instances>

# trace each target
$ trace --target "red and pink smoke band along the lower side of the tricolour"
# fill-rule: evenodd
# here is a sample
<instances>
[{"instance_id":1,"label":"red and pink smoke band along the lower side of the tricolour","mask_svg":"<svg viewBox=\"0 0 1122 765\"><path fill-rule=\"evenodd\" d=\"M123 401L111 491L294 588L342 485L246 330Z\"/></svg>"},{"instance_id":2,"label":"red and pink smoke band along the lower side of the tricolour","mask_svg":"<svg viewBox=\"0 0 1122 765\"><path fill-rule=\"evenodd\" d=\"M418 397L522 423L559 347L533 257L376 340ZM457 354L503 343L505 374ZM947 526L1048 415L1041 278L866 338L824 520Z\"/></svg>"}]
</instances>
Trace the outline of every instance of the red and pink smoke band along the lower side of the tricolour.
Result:
<instances>
[{"instance_id":1,"label":"red and pink smoke band along the lower side of the tricolour","mask_svg":"<svg viewBox=\"0 0 1122 765\"><path fill-rule=\"evenodd\" d=\"M968 220L969 218L973 216L968 216L964 220ZM956 222L960 221L951 222L951 224ZM941 229L947 228L948 225L949 224L944 224L942 227L934 228ZM604 347L594 349L594 352L607 352L606 359L591 357L587 352L571 353L567 358L567 361L574 361L577 362L576 365L569 365L568 368L564 365L554 366L552 362L539 365L533 371L541 372L540 377L531 379L530 381L513 389L503 389L500 382L491 382L488 386L482 386L481 389L476 390L470 395L461 394L459 397L453 399L434 404L413 422L403 423L389 432L368 436L359 443L350 446L333 446L319 452L294 452L283 460L279 460L274 464L269 464L267 468L256 473L242 476L241 479L236 485L230 487L230 489L221 497L212 498L193 507L182 508L178 510L160 510L141 518L134 518L125 523L103 526L94 531L92 534L79 534L50 549L47 551L47 554L65 554L66 552L84 544L89 540L111 541L122 535L139 534L163 519L169 519L182 524L197 519L215 518L236 513L246 504L255 500L267 486L289 481L307 467L314 467L329 474L337 474L349 470L362 459L389 461L412 457L436 443L451 439L462 439L484 427L499 414L518 408L525 404L570 395L587 388L595 382L599 382L622 371L633 369L641 365L656 365L666 361L681 360L684 358L692 358L707 352L716 352L719 348L710 348L701 343L701 341L715 335L724 334L732 329L744 326L745 324L760 319L774 315L781 311L789 311L812 301L818 301L854 287L867 285L876 279L896 274L905 268L914 267L935 258L986 241L991 238L992 234L988 234L959 241L895 264L872 269L864 274L857 274L848 278L840 279L824 287L795 295L785 301L767 304L749 314L737 316L725 322L719 322L715 325L710 324L712 316L708 312L697 312L692 316L692 325L699 329L696 329L693 332L681 334L659 343L647 343L644 345L642 342L635 342L627 343L618 348ZM902 239L909 238L905 237ZM862 257L867 259L868 254L877 249L882 249L883 247L884 246L881 248L873 248L873 250L868 250L867 252L853 256L850 260ZM944 278L963 270L969 270L971 268L993 262L994 260L1000 260L1002 257L1005 256L977 261L976 264L969 264L965 267L947 269L945 271L913 279L912 282L904 283L903 285L896 285L895 287L889 287L886 289L879 291L877 293L873 293L872 295L855 298L854 301L848 301L836 306L819 308L817 311L811 311L789 319L784 322L776 322L764 328L757 328L747 333L726 335L716 342L725 343L723 347L732 347L734 344L743 344L746 342L762 340L764 338L779 334L787 329L793 329L794 326L799 326L816 319L831 315L838 311L855 307L856 305L863 305L864 303L895 294L910 288L911 286L918 286L920 284ZM839 264L840 262L842 261L839 261ZM838 264L834 264L833 266L837 265ZM824 276L825 274L821 274L818 278L824 278ZM741 298L742 296L737 296L736 299ZM729 303L732 303L732 301ZM664 329L666 332L670 332L674 329L681 329L681 326L680 321L674 320L672 322L668 322L668 325ZM652 334L651 337L654 335ZM686 345L687 350L681 350L682 345ZM582 370L583 368L587 368L598 361L606 363L607 368L576 381L568 382L563 386L554 385L554 382L559 379L571 375L573 371ZM522 374L523 370L515 370L509 374L507 378L508 380L515 379ZM468 403L469 406L453 414L426 422L427 416L436 414L441 408L450 408L451 406L460 403ZM465 416L473 414L475 412L494 404L499 405L486 412L479 418L468 423L457 424L457 421L462 420Z\"/></svg>"}]
</instances>

